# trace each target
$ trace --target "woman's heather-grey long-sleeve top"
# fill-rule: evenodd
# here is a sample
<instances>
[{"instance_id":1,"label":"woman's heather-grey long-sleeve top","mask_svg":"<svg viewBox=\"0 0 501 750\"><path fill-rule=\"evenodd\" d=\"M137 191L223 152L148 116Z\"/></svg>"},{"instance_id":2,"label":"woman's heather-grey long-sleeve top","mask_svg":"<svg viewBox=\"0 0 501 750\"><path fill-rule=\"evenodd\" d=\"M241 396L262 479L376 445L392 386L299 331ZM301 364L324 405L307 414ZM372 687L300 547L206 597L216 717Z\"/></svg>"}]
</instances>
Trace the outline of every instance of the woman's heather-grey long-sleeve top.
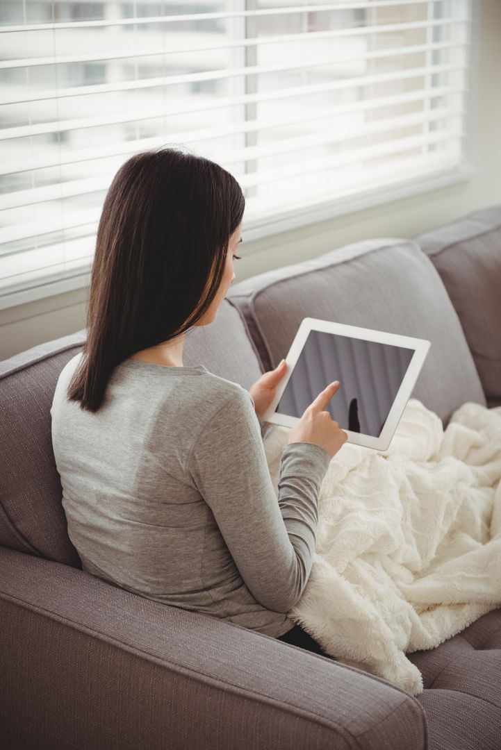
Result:
<instances>
[{"instance_id":1,"label":"woman's heather-grey long-sleeve top","mask_svg":"<svg viewBox=\"0 0 501 750\"><path fill-rule=\"evenodd\" d=\"M278 500L248 391L204 365L127 358L97 413L66 399L52 446L68 534L83 570L138 595L278 637L315 549L329 452L284 446Z\"/></svg>"}]
</instances>

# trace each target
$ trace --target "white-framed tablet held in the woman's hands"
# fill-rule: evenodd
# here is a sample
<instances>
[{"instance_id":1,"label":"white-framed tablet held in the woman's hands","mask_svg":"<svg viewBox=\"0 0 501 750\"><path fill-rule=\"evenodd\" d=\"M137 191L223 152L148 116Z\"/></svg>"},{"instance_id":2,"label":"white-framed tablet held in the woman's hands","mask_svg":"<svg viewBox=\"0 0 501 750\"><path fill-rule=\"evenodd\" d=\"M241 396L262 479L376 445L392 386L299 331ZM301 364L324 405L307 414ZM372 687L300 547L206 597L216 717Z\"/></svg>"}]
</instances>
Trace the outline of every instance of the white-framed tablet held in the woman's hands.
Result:
<instances>
[{"instance_id":1,"label":"white-framed tablet held in the woman's hands","mask_svg":"<svg viewBox=\"0 0 501 750\"><path fill-rule=\"evenodd\" d=\"M422 338L304 318L262 419L293 427L319 393L339 380L326 411L349 443L386 451L430 347Z\"/></svg>"}]
</instances>

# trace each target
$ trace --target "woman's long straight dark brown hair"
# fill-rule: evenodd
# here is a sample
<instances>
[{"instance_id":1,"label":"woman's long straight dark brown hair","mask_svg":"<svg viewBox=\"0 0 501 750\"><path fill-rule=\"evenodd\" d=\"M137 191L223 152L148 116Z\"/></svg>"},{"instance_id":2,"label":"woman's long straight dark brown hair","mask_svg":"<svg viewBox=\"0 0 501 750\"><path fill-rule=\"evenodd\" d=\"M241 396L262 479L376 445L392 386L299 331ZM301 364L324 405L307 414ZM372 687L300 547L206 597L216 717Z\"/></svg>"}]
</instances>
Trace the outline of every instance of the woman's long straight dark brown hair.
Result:
<instances>
[{"instance_id":1,"label":"woman's long straight dark brown hair","mask_svg":"<svg viewBox=\"0 0 501 750\"><path fill-rule=\"evenodd\" d=\"M236 178L205 157L163 146L121 165L99 221L69 401L96 412L115 365L193 328L217 293L244 208Z\"/></svg>"}]
</instances>

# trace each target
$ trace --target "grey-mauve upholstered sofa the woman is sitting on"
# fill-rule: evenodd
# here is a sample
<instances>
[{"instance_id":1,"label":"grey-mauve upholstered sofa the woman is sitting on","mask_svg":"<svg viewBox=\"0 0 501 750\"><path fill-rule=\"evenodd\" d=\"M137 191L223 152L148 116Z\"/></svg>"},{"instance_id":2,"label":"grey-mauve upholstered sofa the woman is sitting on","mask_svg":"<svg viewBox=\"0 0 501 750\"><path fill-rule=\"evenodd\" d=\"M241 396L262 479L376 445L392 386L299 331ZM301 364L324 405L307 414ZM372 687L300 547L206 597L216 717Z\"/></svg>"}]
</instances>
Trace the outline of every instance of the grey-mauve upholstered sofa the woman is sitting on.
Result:
<instances>
[{"instance_id":1,"label":"grey-mauve upholstered sofa the woman is sitting on","mask_svg":"<svg viewBox=\"0 0 501 750\"><path fill-rule=\"evenodd\" d=\"M465 401L501 405L501 205L235 282L214 322L186 336L184 365L248 388L306 316L431 341L413 398L444 428ZM85 340L83 329L0 362L3 750L501 748L501 608L410 654L425 685L413 696L84 572L49 410Z\"/></svg>"}]
</instances>

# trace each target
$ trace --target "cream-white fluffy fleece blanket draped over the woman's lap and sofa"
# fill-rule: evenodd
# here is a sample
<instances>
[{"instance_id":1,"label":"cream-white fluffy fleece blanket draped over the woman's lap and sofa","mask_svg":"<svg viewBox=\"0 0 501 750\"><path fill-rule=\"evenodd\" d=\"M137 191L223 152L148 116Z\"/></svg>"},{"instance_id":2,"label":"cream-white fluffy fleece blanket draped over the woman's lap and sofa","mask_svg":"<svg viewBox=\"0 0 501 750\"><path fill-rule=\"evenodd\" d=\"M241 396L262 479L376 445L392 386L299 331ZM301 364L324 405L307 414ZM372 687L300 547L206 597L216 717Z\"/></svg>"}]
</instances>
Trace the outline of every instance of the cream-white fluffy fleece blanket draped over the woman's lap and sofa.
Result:
<instances>
[{"instance_id":1,"label":"cream-white fluffy fleece blanket draped over the woman's lap and sofa","mask_svg":"<svg viewBox=\"0 0 501 750\"><path fill-rule=\"evenodd\" d=\"M264 441L278 495L289 428ZM320 487L311 575L290 618L329 655L410 694L406 656L501 604L501 407L467 402L443 430L410 399L386 452L345 443Z\"/></svg>"}]
</instances>

